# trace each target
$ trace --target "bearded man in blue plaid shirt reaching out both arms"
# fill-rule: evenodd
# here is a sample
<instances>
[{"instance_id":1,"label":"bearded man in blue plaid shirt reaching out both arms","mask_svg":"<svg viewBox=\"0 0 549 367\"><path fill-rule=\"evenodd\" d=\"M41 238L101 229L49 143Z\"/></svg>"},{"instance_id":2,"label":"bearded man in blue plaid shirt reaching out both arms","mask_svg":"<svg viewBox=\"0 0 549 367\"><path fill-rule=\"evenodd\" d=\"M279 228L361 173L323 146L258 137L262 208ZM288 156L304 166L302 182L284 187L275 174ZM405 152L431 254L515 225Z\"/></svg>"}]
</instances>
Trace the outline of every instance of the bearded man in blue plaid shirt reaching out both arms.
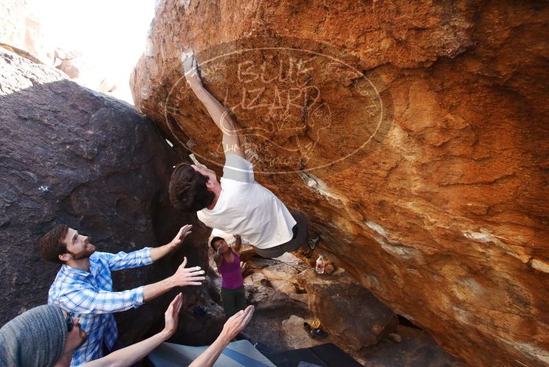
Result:
<instances>
[{"instance_id":1,"label":"bearded man in blue plaid shirt reaching out both arms","mask_svg":"<svg viewBox=\"0 0 549 367\"><path fill-rule=\"evenodd\" d=\"M103 357L103 346L113 348L118 331L113 312L139 307L173 287L200 285L204 271L200 267L185 268L187 259L176 273L165 280L128 291L113 292L110 271L149 265L176 249L185 236L190 234L191 225L181 227L174 240L167 245L126 254L95 252L86 236L76 230L60 225L46 234L40 241L43 258L62 263L54 284L49 289L48 303L80 318L82 329L88 339L75 349L71 366L79 366L93 359ZM60 243L64 246L60 246Z\"/></svg>"}]
</instances>

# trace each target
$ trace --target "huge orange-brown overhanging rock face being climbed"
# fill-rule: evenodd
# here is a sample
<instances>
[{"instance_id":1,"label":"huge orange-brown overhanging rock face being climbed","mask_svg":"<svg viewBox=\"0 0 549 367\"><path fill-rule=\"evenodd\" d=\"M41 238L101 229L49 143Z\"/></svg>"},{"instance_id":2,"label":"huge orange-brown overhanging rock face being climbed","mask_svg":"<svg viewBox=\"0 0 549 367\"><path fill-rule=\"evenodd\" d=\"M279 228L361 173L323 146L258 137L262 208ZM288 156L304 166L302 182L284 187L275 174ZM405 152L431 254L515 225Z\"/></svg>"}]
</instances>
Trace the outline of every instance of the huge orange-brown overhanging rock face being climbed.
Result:
<instances>
[{"instance_id":1,"label":"huge orange-brown overhanging rock face being climbed","mask_svg":"<svg viewBox=\"0 0 549 367\"><path fill-rule=\"evenodd\" d=\"M256 179L471 364L549 364L545 2L159 1L137 106L221 173L197 52Z\"/></svg>"}]
</instances>

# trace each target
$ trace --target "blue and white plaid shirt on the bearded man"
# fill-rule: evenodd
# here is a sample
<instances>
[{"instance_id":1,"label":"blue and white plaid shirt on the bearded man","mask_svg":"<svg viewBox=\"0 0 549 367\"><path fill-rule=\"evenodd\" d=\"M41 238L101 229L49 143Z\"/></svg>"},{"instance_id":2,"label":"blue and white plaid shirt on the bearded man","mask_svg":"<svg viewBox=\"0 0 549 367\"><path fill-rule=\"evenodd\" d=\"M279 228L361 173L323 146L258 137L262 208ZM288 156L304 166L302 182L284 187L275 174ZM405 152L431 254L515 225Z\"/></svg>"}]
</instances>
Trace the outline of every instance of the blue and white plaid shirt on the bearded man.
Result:
<instances>
[{"instance_id":1,"label":"blue and white plaid shirt on the bearded man","mask_svg":"<svg viewBox=\"0 0 549 367\"><path fill-rule=\"evenodd\" d=\"M89 273L68 265L61 267L49 289L48 303L74 313L88 334L88 340L75 349L71 366L103 357L103 343L110 349L118 337L112 313L143 304L143 287L113 292L110 271L152 264L150 250L145 247L130 254L94 252Z\"/></svg>"}]
</instances>

